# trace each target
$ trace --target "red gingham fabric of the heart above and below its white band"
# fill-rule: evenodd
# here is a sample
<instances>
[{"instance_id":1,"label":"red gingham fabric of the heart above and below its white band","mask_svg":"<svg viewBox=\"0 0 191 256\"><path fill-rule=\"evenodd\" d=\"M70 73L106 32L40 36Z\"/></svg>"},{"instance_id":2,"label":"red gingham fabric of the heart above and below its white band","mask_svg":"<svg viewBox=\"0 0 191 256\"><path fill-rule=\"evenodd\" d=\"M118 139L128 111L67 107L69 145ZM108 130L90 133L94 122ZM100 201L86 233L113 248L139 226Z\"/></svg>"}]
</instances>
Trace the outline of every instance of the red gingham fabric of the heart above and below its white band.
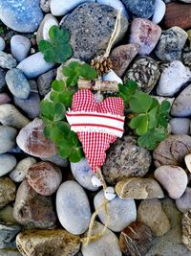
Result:
<instances>
[{"instance_id":1,"label":"red gingham fabric of the heart above and below its white band","mask_svg":"<svg viewBox=\"0 0 191 256\"><path fill-rule=\"evenodd\" d=\"M97 104L95 96L90 90L79 90L74 94L72 111L105 113L107 115L110 113L111 115L123 117L124 102L119 97L109 97L102 103ZM122 120L120 122L122 122L123 127L124 119ZM100 127L104 127L104 125L107 126L107 123L100 125ZM105 162L106 151L109 149L110 144L117 140L117 136L100 131L78 131L77 135L92 170L96 172L96 167L100 168Z\"/></svg>"}]
</instances>

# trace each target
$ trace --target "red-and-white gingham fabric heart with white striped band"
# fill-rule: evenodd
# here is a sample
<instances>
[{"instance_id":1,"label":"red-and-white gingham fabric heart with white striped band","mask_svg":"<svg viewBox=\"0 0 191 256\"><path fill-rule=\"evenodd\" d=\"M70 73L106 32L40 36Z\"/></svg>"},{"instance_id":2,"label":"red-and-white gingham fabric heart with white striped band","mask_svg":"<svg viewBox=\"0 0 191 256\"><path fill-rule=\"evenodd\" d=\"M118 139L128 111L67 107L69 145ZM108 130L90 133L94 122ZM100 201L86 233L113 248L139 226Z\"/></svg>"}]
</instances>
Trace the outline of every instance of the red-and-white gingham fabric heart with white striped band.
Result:
<instances>
[{"instance_id":1,"label":"red-and-white gingham fabric heart with white striped band","mask_svg":"<svg viewBox=\"0 0 191 256\"><path fill-rule=\"evenodd\" d=\"M94 172L105 162L110 144L124 132L124 102L119 97L109 97L100 104L88 90L74 94L72 110L67 119L82 143L83 151Z\"/></svg>"}]
</instances>

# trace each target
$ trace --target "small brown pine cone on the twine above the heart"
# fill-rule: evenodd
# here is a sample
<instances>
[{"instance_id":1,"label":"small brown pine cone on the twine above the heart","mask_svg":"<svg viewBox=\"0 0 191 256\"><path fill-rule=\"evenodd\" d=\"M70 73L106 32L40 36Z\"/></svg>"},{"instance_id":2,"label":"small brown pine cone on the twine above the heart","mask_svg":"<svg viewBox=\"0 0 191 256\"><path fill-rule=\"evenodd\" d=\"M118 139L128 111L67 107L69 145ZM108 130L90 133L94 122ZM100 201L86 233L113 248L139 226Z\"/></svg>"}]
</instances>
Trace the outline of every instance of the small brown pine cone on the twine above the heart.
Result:
<instances>
[{"instance_id":1,"label":"small brown pine cone on the twine above the heart","mask_svg":"<svg viewBox=\"0 0 191 256\"><path fill-rule=\"evenodd\" d=\"M96 57L92 60L91 66L96 69L98 76L103 76L112 68L112 60L110 58Z\"/></svg>"}]
</instances>

